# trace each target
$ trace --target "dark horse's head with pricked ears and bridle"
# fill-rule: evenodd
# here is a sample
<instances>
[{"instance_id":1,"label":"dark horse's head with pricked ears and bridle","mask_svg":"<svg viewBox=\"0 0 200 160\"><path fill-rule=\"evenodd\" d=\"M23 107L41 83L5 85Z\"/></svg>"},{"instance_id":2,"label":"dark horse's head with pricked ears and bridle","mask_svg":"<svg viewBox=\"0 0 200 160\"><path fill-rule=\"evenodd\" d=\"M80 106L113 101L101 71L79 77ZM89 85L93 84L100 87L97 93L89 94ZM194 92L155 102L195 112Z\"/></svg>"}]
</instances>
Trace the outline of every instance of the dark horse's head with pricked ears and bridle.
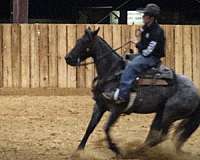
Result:
<instances>
[{"instance_id":1,"label":"dark horse's head with pricked ears and bridle","mask_svg":"<svg viewBox=\"0 0 200 160\"><path fill-rule=\"evenodd\" d=\"M88 57L93 57L92 49L99 32L98 28L92 31L90 28L85 30L85 34L77 40L74 48L65 56L66 63L72 66L78 66L80 62Z\"/></svg>"}]
</instances>

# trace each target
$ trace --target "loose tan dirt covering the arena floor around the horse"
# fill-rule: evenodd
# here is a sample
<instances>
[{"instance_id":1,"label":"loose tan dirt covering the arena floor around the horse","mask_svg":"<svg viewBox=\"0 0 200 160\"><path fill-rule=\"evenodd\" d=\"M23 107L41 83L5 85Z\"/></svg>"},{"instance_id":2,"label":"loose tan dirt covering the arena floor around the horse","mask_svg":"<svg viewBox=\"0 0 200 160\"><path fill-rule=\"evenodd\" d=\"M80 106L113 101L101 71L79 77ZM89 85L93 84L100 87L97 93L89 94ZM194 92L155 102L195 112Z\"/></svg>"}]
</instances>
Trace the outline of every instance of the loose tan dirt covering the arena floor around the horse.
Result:
<instances>
[{"instance_id":1,"label":"loose tan dirt covering the arena floor around the horse","mask_svg":"<svg viewBox=\"0 0 200 160\"><path fill-rule=\"evenodd\" d=\"M0 96L0 102L0 160L116 159L102 130L109 113L91 135L85 151L74 153L92 113L90 96ZM153 116L121 116L113 127L112 136L128 159L200 160L200 129L184 146L190 153L175 154L170 140L134 153Z\"/></svg>"}]
</instances>

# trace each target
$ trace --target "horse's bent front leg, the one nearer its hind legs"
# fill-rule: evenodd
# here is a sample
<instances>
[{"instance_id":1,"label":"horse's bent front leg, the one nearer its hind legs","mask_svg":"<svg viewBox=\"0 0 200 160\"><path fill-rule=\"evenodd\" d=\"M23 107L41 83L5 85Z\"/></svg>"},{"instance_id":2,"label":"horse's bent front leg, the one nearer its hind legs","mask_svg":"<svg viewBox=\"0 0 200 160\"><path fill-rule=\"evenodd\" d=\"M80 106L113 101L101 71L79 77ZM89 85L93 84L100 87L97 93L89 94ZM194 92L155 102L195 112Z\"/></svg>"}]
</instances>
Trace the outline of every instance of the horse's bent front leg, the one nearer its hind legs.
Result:
<instances>
[{"instance_id":1,"label":"horse's bent front leg, the one nearer its hind legs","mask_svg":"<svg viewBox=\"0 0 200 160\"><path fill-rule=\"evenodd\" d=\"M116 107L116 106L115 106ZM113 152L115 152L117 155L120 155L120 150L119 148L117 147L117 145L112 141L112 138L110 136L110 129L111 127L113 126L113 124L117 121L117 119L119 118L120 116L120 111L118 111L117 107L114 108L110 114L110 117L108 119L108 122L106 123L105 125L105 134L106 134L106 140L108 142L108 146L109 146L109 149L111 149Z\"/></svg>"}]
</instances>

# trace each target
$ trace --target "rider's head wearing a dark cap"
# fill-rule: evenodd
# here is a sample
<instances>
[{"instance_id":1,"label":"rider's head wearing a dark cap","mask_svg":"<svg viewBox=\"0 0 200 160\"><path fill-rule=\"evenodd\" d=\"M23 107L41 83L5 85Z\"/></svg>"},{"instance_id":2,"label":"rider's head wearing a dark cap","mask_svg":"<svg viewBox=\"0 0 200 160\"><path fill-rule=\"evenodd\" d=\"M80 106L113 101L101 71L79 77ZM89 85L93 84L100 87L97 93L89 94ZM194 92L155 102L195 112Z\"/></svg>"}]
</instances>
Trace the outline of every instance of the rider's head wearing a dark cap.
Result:
<instances>
[{"instance_id":1,"label":"rider's head wearing a dark cap","mask_svg":"<svg viewBox=\"0 0 200 160\"><path fill-rule=\"evenodd\" d=\"M154 3L149 3L144 8L143 12L144 25L151 25L160 14L160 7Z\"/></svg>"}]
</instances>

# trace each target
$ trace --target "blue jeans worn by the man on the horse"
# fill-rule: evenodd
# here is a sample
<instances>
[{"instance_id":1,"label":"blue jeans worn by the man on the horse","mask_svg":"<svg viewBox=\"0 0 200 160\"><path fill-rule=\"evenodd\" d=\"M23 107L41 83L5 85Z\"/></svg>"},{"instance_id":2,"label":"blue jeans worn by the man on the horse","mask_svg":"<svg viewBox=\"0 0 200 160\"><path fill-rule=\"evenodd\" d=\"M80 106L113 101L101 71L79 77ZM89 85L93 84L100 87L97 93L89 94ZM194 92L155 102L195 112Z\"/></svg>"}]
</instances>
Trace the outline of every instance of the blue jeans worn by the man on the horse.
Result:
<instances>
[{"instance_id":1,"label":"blue jeans worn by the man on the horse","mask_svg":"<svg viewBox=\"0 0 200 160\"><path fill-rule=\"evenodd\" d=\"M130 89L132 88L132 84L134 84L136 77L140 73L156 66L159 62L160 59L157 57L144 57L141 54L138 54L135 58L128 62L121 76L119 97L127 100L129 98Z\"/></svg>"}]
</instances>

